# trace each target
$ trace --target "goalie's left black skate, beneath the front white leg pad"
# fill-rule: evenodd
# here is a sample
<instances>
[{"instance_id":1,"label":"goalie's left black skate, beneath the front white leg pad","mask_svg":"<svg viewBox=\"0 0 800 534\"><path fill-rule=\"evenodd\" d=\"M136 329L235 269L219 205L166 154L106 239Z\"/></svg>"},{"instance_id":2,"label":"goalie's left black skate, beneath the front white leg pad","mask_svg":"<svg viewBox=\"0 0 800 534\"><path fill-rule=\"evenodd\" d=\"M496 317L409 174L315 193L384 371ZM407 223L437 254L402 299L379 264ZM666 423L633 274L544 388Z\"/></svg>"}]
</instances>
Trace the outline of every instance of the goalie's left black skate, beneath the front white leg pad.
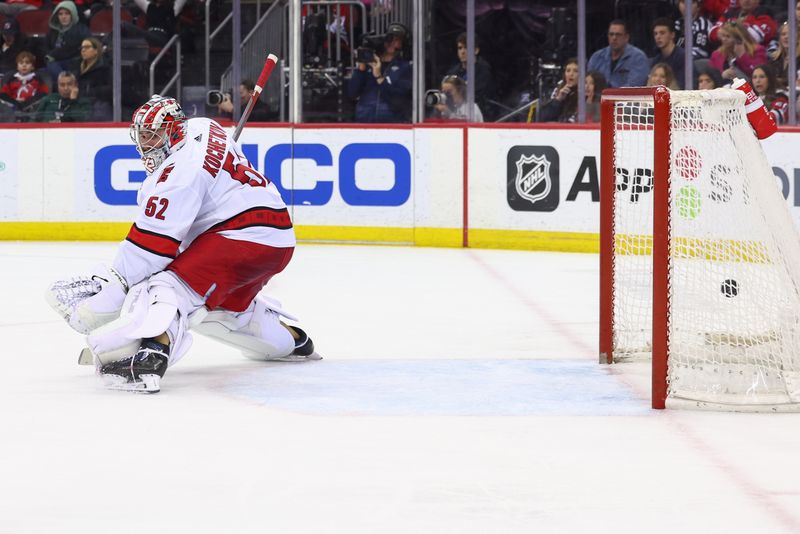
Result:
<instances>
[{"instance_id":1,"label":"goalie's left black skate, beneath the front white leg pad","mask_svg":"<svg viewBox=\"0 0 800 534\"><path fill-rule=\"evenodd\" d=\"M100 367L100 376L108 389L132 393L158 393L161 377L169 365L169 347L145 339L139 351L130 358Z\"/></svg>"}]
</instances>

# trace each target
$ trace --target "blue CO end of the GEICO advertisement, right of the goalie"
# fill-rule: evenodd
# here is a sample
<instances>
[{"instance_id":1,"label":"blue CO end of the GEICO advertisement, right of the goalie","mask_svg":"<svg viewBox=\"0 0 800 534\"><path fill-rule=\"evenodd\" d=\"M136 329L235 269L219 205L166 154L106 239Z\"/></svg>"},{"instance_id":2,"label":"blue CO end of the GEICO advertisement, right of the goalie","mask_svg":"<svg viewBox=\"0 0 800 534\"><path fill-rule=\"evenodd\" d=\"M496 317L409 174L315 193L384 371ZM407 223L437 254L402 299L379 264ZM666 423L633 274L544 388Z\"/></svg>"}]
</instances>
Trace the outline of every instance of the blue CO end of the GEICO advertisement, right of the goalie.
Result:
<instances>
[{"instance_id":1,"label":"blue CO end of the GEICO advertisement, right of the goalie","mask_svg":"<svg viewBox=\"0 0 800 534\"><path fill-rule=\"evenodd\" d=\"M295 129L293 144L259 144L298 224L411 228L413 140L410 129Z\"/></svg>"}]
</instances>

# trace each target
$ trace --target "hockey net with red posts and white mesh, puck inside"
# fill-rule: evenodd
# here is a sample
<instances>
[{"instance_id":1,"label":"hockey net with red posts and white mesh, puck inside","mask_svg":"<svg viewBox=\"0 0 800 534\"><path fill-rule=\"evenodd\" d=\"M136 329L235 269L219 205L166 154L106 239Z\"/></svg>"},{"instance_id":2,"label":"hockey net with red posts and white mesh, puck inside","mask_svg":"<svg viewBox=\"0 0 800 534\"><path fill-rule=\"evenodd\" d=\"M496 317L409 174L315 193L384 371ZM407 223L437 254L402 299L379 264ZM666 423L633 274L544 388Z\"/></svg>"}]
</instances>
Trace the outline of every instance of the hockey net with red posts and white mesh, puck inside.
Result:
<instances>
[{"instance_id":1,"label":"hockey net with red posts and white mesh, puck inside","mask_svg":"<svg viewBox=\"0 0 800 534\"><path fill-rule=\"evenodd\" d=\"M601 362L653 407L800 409L800 242L739 91L603 94Z\"/></svg>"}]
</instances>

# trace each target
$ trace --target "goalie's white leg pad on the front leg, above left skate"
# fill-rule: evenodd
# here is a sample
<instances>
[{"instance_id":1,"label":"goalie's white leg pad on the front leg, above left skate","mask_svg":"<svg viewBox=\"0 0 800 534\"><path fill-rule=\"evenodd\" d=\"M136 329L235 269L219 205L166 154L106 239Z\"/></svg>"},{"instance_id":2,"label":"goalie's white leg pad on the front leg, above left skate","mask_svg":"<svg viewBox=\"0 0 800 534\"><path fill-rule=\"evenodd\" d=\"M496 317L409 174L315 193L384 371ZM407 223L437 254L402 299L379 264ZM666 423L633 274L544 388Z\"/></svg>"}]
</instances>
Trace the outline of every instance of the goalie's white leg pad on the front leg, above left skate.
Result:
<instances>
[{"instance_id":1,"label":"goalie's white leg pad on the front leg, above left skate","mask_svg":"<svg viewBox=\"0 0 800 534\"><path fill-rule=\"evenodd\" d=\"M171 287L141 282L128 291L119 318L93 330L87 342L100 363L118 361L135 353L142 338L169 332L173 322L182 320L181 317ZM177 328L173 330L176 337L181 334Z\"/></svg>"}]
</instances>

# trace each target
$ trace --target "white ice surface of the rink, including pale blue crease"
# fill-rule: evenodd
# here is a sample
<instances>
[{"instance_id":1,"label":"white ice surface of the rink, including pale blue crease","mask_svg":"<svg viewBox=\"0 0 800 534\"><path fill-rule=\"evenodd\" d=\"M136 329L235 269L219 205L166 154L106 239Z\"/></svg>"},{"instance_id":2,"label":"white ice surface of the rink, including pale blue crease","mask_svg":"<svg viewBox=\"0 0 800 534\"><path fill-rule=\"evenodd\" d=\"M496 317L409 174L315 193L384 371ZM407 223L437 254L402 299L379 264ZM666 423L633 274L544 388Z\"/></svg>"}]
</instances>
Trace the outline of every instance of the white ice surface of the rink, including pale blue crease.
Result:
<instances>
[{"instance_id":1,"label":"white ice surface of the rink, including pale blue crease","mask_svg":"<svg viewBox=\"0 0 800 534\"><path fill-rule=\"evenodd\" d=\"M196 336L146 396L42 297L114 247L0 243L2 534L800 532L800 415L650 410L594 255L304 244L323 361Z\"/></svg>"}]
</instances>

